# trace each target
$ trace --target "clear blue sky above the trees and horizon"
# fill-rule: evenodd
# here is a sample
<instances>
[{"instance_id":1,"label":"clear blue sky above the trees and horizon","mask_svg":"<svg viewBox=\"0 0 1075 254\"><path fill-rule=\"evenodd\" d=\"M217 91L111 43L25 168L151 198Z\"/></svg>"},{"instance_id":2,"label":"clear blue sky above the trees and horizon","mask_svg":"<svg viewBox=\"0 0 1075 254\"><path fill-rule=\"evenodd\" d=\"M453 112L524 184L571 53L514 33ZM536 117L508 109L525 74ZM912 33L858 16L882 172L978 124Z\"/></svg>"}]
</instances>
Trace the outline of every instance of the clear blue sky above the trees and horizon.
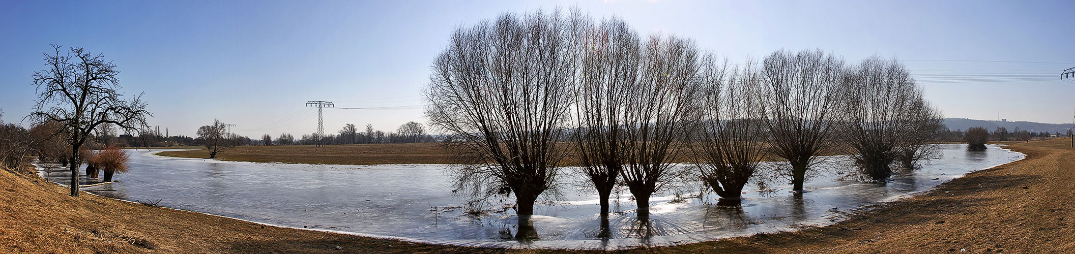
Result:
<instances>
[{"instance_id":1,"label":"clear blue sky above the trees and horizon","mask_svg":"<svg viewBox=\"0 0 1075 254\"><path fill-rule=\"evenodd\" d=\"M775 49L820 48L904 60L946 117L1072 122L1075 1L4 1L0 108L18 122L49 43L104 54L123 91L145 92L152 125L192 136L219 119L241 135L316 131L306 101L340 107L421 105L429 65L457 26L503 12L578 6L640 33L694 39L742 62ZM952 61L960 60L960 61ZM932 74L971 74L938 83ZM1056 80L980 83L979 74ZM1023 76L1024 77L1024 76ZM946 79L947 80L947 79ZM991 80L997 80L995 78ZM1073 80L1075 81L1075 80ZM345 123L395 131L421 109L326 109Z\"/></svg>"}]
</instances>

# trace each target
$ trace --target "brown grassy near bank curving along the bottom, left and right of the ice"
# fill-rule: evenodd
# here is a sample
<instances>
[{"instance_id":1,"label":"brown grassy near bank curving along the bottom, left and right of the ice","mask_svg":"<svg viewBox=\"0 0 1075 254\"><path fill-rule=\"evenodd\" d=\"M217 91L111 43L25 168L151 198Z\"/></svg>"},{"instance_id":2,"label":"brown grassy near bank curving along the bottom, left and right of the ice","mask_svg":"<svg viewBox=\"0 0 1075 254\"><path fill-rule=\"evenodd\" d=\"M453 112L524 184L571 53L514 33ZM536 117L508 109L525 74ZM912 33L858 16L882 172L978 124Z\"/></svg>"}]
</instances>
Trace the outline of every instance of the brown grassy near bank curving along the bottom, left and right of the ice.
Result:
<instances>
[{"instance_id":1,"label":"brown grassy near bank curving along the bottom, left and right of the ice","mask_svg":"<svg viewBox=\"0 0 1075 254\"><path fill-rule=\"evenodd\" d=\"M1075 252L1075 226L1070 225L1075 220L1075 149L1063 139L1008 148L1027 153L1027 160L874 206L835 225L624 253ZM0 192L0 253L565 252L430 245L262 227L88 194L69 197L63 188L2 170Z\"/></svg>"}]
</instances>

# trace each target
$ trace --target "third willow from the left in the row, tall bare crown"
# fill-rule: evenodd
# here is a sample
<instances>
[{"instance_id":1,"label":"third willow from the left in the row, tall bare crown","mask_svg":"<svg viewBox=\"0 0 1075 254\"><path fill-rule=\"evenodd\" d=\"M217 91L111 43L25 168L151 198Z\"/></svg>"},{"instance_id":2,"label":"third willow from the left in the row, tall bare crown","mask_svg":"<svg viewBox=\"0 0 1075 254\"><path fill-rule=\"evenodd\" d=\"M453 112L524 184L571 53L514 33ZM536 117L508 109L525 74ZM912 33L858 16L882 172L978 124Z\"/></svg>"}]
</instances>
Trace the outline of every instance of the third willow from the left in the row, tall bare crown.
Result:
<instances>
[{"instance_id":1,"label":"third willow from the left in the row, tall bare crown","mask_svg":"<svg viewBox=\"0 0 1075 254\"><path fill-rule=\"evenodd\" d=\"M698 118L700 56L693 42L676 36L650 35L640 51L639 80L625 108L621 175L643 214L653 193L687 173L673 162L689 149L685 137Z\"/></svg>"}]
</instances>

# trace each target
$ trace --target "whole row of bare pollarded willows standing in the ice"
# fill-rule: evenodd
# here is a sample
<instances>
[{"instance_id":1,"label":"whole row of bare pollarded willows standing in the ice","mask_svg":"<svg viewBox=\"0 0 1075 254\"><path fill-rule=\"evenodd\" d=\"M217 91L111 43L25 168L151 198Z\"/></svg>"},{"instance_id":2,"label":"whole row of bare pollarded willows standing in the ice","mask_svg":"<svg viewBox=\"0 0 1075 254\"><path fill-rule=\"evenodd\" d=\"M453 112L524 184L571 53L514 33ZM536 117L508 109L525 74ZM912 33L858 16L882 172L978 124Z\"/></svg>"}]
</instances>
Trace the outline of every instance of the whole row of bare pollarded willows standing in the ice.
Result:
<instances>
[{"instance_id":1,"label":"whole row of bare pollarded willows standing in the ice","mask_svg":"<svg viewBox=\"0 0 1075 254\"><path fill-rule=\"evenodd\" d=\"M786 161L776 171L801 192L822 152L846 149L870 176L888 169L872 165L901 158L913 164L928 154L930 147L904 141L929 129L918 120L937 119L932 107L913 80L874 78L900 74L895 62L849 66L819 50L779 50L760 64L733 65L718 64L690 40L640 38L618 18L503 14L453 33L432 64L426 116L449 134L446 144L460 160L452 170L457 191L514 194L520 215L532 214L560 176L573 147L559 140L575 143L578 173L598 190L602 214L617 185L644 211L653 193L689 175L737 199L770 156ZM906 92L848 92L889 88ZM875 103L851 106L863 103L856 98ZM890 114L875 116L880 111ZM899 124L876 125L886 121ZM863 135L848 134L856 131ZM864 135L871 132L887 135L882 148L872 147L877 136ZM859 149L868 146L874 150ZM688 153L697 174L674 164Z\"/></svg>"}]
</instances>

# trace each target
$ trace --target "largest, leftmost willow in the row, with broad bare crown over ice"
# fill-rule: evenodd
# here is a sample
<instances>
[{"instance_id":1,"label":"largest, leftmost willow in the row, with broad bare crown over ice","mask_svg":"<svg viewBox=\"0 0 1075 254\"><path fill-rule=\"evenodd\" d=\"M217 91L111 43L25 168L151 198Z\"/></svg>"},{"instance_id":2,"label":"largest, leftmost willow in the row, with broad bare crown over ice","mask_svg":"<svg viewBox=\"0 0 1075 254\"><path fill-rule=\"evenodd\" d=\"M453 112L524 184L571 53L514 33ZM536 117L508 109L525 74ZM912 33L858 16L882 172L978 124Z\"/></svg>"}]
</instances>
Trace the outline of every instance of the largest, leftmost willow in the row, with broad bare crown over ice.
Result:
<instances>
[{"instance_id":1,"label":"largest, leftmost willow in the row, with broad bare crown over ice","mask_svg":"<svg viewBox=\"0 0 1075 254\"><path fill-rule=\"evenodd\" d=\"M430 123L450 135L455 188L474 197L514 194L516 211L556 182L568 148L574 78L570 18L559 11L458 28L424 92Z\"/></svg>"}]
</instances>

